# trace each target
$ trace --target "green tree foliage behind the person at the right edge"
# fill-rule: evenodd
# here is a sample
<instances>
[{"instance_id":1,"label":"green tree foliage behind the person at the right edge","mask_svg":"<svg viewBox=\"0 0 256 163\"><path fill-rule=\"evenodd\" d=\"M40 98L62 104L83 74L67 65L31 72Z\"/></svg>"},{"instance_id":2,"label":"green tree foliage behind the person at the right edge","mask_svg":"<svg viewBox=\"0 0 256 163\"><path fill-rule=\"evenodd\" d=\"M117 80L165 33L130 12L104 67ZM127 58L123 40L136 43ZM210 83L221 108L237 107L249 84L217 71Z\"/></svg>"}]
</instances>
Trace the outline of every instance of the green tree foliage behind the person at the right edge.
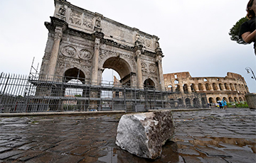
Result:
<instances>
[{"instance_id":1,"label":"green tree foliage behind the person at the right edge","mask_svg":"<svg viewBox=\"0 0 256 163\"><path fill-rule=\"evenodd\" d=\"M242 38L239 37L239 30L240 30L240 26L242 25L242 23L244 23L245 21L248 21L247 17L244 18L240 18L240 20L235 23L235 25L233 26L233 28L230 29L230 33L228 33L231 36L231 40L236 41L239 44L247 44L245 43L244 40L242 40Z\"/></svg>"}]
</instances>

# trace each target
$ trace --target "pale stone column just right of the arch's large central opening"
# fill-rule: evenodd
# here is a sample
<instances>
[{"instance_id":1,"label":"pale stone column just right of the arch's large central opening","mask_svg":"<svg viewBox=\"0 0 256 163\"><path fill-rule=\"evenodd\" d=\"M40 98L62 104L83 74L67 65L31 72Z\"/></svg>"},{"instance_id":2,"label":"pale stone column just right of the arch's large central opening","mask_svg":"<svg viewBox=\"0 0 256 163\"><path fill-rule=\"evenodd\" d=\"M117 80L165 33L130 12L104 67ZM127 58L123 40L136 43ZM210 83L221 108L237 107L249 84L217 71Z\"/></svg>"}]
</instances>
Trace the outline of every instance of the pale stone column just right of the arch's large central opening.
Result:
<instances>
[{"instance_id":1,"label":"pale stone column just right of the arch's large central opening","mask_svg":"<svg viewBox=\"0 0 256 163\"><path fill-rule=\"evenodd\" d=\"M142 45L136 45L134 47L135 56L137 59L137 87L143 89L142 79Z\"/></svg>"}]
</instances>

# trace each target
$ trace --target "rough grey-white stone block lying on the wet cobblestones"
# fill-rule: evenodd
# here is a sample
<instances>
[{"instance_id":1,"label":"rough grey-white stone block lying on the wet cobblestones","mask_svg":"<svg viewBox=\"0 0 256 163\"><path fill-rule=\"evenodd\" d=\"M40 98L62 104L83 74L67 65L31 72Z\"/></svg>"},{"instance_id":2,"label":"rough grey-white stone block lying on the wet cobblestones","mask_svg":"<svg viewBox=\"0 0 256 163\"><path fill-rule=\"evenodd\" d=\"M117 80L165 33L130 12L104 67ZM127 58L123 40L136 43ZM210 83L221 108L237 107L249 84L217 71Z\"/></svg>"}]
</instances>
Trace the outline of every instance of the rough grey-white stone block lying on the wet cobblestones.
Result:
<instances>
[{"instance_id":1,"label":"rough grey-white stone block lying on the wet cobblestones","mask_svg":"<svg viewBox=\"0 0 256 163\"><path fill-rule=\"evenodd\" d=\"M171 111L127 114L119 120L116 144L139 157L156 159L173 136Z\"/></svg>"}]
</instances>

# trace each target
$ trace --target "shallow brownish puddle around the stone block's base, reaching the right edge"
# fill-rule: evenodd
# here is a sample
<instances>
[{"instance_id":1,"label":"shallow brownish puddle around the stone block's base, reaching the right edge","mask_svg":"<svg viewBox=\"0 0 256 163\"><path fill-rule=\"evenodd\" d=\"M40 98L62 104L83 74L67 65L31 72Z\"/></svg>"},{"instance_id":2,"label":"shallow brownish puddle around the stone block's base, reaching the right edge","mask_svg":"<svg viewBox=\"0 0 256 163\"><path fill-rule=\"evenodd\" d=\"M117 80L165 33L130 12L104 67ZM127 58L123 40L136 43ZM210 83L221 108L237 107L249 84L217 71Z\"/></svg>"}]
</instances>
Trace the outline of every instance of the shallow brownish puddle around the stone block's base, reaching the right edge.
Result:
<instances>
[{"instance_id":1,"label":"shallow brownish puddle around the stone block's base, reaching the right edge","mask_svg":"<svg viewBox=\"0 0 256 163\"><path fill-rule=\"evenodd\" d=\"M175 138L174 141L167 141L162 147L161 157L155 160L144 159L137 157L134 154L122 150L119 147L107 147L104 151L107 155L98 157L100 162L184 162L191 158L198 162L208 162L208 159L220 159L220 162L225 162L225 159L233 157L227 150L242 150L255 154L255 141L250 141L242 138L228 137L197 137L197 140L181 140ZM203 149L203 150L202 150ZM206 151L206 152L204 152ZM210 153L208 152L210 151ZM214 158L213 158L214 157Z\"/></svg>"}]
</instances>

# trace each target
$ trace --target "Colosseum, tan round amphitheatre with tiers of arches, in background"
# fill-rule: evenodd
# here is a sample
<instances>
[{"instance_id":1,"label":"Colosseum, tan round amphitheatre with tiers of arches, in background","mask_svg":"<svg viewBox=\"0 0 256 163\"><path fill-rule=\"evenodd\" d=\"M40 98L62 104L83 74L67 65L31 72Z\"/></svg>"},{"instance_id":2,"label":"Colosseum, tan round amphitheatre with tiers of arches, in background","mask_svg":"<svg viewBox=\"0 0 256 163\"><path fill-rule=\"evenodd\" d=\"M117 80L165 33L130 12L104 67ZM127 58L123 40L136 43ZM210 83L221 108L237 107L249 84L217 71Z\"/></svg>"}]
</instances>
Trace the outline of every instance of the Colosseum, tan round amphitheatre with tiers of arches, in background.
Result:
<instances>
[{"instance_id":1,"label":"Colosseum, tan round amphitheatre with tiers of arches, in background","mask_svg":"<svg viewBox=\"0 0 256 163\"><path fill-rule=\"evenodd\" d=\"M206 94L201 103L217 103L223 98L227 102L245 101L245 94L249 93L245 79L233 72L228 72L226 77L191 77L189 72L176 72L164 74L164 83L166 90L181 94L174 101L184 106L193 106L194 102L186 94Z\"/></svg>"}]
</instances>

